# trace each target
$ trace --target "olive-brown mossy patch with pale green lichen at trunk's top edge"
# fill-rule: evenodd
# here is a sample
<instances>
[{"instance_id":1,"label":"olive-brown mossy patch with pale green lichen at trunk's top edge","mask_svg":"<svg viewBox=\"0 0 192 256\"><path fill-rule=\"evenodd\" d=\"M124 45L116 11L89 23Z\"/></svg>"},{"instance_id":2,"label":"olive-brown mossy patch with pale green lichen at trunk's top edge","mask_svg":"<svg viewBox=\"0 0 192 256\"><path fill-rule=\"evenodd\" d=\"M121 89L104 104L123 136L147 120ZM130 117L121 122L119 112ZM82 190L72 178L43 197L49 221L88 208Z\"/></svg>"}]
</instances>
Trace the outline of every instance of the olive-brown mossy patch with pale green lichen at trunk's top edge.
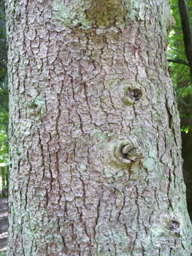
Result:
<instances>
[{"instance_id":1,"label":"olive-brown mossy patch with pale green lichen at trunk's top edge","mask_svg":"<svg viewBox=\"0 0 192 256\"><path fill-rule=\"evenodd\" d=\"M51 23L58 26L59 21L64 28L80 27L84 30L119 25L125 19L135 18L137 10L133 10L132 6L130 0L124 0L123 3L120 0L81 0L68 5L55 0Z\"/></svg>"}]
</instances>

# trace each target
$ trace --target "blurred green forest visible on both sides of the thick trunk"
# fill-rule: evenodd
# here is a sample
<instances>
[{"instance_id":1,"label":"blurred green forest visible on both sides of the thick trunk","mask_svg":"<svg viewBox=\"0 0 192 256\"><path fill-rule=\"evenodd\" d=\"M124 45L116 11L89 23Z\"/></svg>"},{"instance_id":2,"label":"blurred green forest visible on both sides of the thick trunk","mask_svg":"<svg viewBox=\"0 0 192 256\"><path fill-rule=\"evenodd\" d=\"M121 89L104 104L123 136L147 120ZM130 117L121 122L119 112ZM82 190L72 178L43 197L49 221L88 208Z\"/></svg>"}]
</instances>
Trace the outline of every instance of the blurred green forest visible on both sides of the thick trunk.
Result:
<instances>
[{"instance_id":1,"label":"blurred green forest visible on both sides of the thick trunk","mask_svg":"<svg viewBox=\"0 0 192 256\"><path fill-rule=\"evenodd\" d=\"M192 26L192 1L187 0ZM185 54L183 29L177 0L170 0L172 16L176 23L168 35L167 59L169 72L177 93L181 119L183 175L187 192L188 212L192 220L192 83L188 59ZM9 89L7 80L7 42L4 1L0 0L0 197L8 197L8 115Z\"/></svg>"}]
</instances>

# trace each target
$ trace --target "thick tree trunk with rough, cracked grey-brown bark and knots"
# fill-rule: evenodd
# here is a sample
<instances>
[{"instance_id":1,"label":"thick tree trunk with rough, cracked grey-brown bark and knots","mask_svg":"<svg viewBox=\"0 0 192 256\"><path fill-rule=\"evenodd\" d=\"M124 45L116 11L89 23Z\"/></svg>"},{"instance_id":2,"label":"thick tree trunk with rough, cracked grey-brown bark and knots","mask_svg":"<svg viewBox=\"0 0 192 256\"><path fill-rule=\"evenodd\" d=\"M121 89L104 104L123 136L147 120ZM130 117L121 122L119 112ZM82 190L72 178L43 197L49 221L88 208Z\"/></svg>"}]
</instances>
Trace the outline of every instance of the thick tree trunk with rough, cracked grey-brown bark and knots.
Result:
<instances>
[{"instance_id":1,"label":"thick tree trunk with rough, cracked grey-brown bark and knots","mask_svg":"<svg viewBox=\"0 0 192 256\"><path fill-rule=\"evenodd\" d=\"M191 255L167 1L6 1L8 255Z\"/></svg>"}]
</instances>

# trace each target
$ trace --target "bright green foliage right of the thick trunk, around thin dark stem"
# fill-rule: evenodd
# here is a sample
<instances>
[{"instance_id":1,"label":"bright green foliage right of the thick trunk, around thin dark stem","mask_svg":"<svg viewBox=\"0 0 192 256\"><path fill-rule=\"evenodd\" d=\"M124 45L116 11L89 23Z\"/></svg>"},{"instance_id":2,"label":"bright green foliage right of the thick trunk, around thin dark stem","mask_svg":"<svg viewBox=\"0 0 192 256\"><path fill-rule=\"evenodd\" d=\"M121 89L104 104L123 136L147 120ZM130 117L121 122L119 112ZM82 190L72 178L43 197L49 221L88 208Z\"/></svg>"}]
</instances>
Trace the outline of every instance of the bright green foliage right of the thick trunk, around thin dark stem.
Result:
<instances>
[{"instance_id":1,"label":"bright green foliage right of the thick trunk, around thin dark stem","mask_svg":"<svg viewBox=\"0 0 192 256\"><path fill-rule=\"evenodd\" d=\"M192 1L186 0L189 17L192 17ZM180 19L180 10L177 0L169 0L172 16L176 24L168 35L168 59L188 63L183 42L183 30ZM190 19L192 26L192 18ZM178 107L181 118L181 131L186 134L192 132L192 83L190 68L185 64L169 62L172 70L172 81L176 88Z\"/></svg>"}]
</instances>

